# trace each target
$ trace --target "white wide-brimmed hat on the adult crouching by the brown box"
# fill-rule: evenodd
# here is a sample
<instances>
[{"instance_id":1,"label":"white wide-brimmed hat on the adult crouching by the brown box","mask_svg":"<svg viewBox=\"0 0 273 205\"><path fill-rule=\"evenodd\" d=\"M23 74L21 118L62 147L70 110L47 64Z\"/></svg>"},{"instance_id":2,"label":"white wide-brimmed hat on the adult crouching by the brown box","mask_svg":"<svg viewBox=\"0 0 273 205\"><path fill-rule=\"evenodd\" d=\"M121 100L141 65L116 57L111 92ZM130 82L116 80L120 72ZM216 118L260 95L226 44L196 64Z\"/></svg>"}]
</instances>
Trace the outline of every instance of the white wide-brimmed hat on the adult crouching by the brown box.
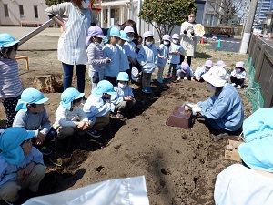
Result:
<instances>
[{"instance_id":1,"label":"white wide-brimmed hat on the adult crouching by the brown box","mask_svg":"<svg viewBox=\"0 0 273 205\"><path fill-rule=\"evenodd\" d=\"M202 77L214 87L223 87L227 83L227 71L223 67L211 67Z\"/></svg>"}]
</instances>

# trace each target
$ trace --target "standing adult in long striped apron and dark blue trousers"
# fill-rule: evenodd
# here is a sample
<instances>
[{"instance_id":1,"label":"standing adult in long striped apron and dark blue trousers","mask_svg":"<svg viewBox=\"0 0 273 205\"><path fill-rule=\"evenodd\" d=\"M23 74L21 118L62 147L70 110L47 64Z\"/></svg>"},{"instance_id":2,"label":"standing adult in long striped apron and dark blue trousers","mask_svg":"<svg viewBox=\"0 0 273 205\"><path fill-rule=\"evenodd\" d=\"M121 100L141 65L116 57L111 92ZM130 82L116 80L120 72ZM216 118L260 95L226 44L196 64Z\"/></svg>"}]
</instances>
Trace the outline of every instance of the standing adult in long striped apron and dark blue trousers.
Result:
<instances>
[{"instance_id":1,"label":"standing adult in long striped apron and dark blue trousers","mask_svg":"<svg viewBox=\"0 0 273 205\"><path fill-rule=\"evenodd\" d=\"M80 93L85 91L86 36L88 28L97 24L96 16L88 5L89 0L71 0L45 10L45 14L64 30L58 41L58 60L62 62L64 69L64 90L71 87L73 67L76 65L76 83ZM60 15L63 21L56 15Z\"/></svg>"}]
</instances>

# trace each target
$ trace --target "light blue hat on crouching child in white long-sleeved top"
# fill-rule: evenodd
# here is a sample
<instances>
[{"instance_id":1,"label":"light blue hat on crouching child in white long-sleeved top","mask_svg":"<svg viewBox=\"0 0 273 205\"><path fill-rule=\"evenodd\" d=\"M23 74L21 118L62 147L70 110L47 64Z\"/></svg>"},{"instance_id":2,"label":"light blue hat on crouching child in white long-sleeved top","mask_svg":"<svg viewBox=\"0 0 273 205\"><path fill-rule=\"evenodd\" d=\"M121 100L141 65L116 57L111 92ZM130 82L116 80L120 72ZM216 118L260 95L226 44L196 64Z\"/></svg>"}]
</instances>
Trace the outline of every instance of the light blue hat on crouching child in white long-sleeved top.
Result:
<instances>
[{"instance_id":1,"label":"light blue hat on crouching child in white long-sleeved top","mask_svg":"<svg viewBox=\"0 0 273 205\"><path fill-rule=\"evenodd\" d=\"M68 110L71 108L71 102L75 99L84 97L85 93L80 93L76 90L76 88L70 87L67 88L61 96L62 101L60 102L60 105Z\"/></svg>"}]
</instances>

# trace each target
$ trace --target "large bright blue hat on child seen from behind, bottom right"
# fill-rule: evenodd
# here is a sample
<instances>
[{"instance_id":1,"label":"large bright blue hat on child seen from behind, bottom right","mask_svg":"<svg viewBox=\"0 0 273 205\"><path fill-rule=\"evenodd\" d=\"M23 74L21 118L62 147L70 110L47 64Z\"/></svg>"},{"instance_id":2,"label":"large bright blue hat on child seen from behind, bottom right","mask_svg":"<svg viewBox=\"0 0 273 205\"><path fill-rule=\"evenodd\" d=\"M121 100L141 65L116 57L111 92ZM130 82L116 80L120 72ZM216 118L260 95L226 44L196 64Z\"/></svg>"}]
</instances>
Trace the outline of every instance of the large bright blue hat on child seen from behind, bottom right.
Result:
<instances>
[{"instance_id":1,"label":"large bright blue hat on child seen from behind, bottom right","mask_svg":"<svg viewBox=\"0 0 273 205\"><path fill-rule=\"evenodd\" d=\"M273 172L273 108L259 108L243 124L246 143L238 153L251 169Z\"/></svg>"}]
</instances>

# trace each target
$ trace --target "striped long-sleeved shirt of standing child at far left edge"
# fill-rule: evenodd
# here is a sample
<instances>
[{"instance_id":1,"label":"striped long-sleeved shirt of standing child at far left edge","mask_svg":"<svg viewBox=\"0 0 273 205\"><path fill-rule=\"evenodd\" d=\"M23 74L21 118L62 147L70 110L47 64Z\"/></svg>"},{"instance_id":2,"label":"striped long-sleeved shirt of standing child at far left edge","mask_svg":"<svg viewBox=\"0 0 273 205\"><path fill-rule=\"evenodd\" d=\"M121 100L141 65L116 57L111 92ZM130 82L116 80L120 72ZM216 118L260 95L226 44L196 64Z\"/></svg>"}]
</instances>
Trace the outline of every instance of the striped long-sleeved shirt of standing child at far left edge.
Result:
<instances>
[{"instance_id":1,"label":"striped long-sleeved shirt of standing child at far left edge","mask_svg":"<svg viewBox=\"0 0 273 205\"><path fill-rule=\"evenodd\" d=\"M0 59L0 97L17 97L23 92L16 60Z\"/></svg>"}]
</instances>

